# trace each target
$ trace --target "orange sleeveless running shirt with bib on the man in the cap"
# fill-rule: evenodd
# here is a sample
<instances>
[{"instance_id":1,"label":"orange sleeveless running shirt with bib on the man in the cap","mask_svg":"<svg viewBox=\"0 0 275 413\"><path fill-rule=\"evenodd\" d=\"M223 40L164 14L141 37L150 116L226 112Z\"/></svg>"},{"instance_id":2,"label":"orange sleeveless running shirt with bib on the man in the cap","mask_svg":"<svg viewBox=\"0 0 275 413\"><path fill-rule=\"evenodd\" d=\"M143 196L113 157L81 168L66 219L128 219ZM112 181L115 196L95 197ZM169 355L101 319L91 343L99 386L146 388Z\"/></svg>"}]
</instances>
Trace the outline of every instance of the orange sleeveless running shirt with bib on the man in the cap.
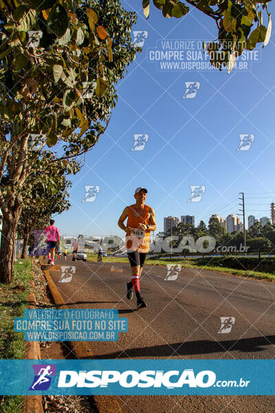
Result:
<instances>
[{"instance_id":1,"label":"orange sleeveless running shirt with bib on the man in the cap","mask_svg":"<svg viewBox=\"0 0 275 413\"><path fill-rule=\"evenodd\" d=\"M138 228L139 224L150 225L149 206L144 205L144 211L140 216L135 215L133 211L135 205L129 206L128 220L126 226L133 228L133 231L126 232L125 245L131 251L137 253L148 253L150 248L150 231L148 229L141 230Z\"/></svg>"}]
</instances>

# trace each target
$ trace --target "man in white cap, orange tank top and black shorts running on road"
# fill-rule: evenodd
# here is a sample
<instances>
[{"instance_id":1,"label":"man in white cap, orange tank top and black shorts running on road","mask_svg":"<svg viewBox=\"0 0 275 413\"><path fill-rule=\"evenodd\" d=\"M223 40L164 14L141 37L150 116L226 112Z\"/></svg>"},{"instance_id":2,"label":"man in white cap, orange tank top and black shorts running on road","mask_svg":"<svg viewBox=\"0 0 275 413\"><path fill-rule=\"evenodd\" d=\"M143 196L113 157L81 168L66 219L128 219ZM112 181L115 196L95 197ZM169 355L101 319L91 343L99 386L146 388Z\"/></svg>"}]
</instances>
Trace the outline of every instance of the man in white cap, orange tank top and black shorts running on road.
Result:
<instances>
[{"instance_id":1,"label":"man in white cap, orange tank top and black shorts running on road","mask_svg":"<svg viewBox=\"0 0 275 413\"><path fill-rule=\"evenodd\" d=\"M132 280L126 283L128 299L133 298L133 289L137 297L137 308L147 306L140 294L140 276L150 246L150 231L155 231L155 211L144 204L147 189L135 189L135 204L126 207L118 220L118 226L126 232L125 245L132 269ZM124 221L128 217L126 226Z\"/></svg>"}]
</instances>

